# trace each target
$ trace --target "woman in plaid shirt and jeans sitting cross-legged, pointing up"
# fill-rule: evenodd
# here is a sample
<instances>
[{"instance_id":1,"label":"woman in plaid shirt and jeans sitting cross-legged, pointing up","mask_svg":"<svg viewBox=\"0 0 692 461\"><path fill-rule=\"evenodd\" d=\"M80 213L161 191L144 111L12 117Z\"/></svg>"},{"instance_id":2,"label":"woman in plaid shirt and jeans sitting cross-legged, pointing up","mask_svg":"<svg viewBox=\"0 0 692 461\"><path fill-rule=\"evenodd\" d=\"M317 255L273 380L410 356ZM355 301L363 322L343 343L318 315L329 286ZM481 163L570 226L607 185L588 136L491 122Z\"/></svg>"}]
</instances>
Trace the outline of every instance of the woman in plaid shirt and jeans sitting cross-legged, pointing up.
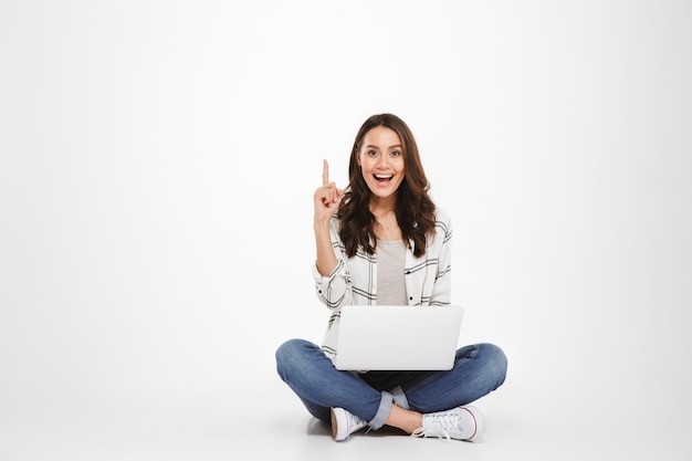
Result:
<instances>
[{"instance_id":1,"label":"woman in plaid shirt and jeans sitting cross-legged, pointing up","mask_svg":"<svg viewBox=\"0 0 692 461\"><path fill-rule=\"evenodd\" d=\"M369 426L413 437L472 441L484 430L472 401L504 383L507 362L492 344L457 350L448 371L337 370L333 359L340 307L449 305L449 217L429 197L418 147L403 121L369 117L356 135L345 190L323 164L314 195L317 297L331 310L321 346L290 339L276 350L280 377L335 440Z\"/></svg>"}]
</instances>

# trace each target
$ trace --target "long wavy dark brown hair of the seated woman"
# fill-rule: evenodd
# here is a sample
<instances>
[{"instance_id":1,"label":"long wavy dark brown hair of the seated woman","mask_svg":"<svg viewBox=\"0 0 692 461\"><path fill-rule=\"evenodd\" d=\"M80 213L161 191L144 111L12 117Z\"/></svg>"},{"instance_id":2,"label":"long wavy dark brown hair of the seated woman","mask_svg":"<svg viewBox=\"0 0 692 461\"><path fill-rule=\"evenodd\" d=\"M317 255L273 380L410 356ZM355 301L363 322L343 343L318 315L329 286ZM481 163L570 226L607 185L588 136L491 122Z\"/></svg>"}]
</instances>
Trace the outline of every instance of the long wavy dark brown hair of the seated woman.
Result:
<instances>
[{"instance_id":1,"label":"long wavy dark brown hair of the seated woman","mask_svg":"<svg viewBox=\"0 0 692 461\"><path fill-rule=\"evenodd\" d=\"M365 135L376 126L392 129L401 139L405 178L397 189L395 213L405 242L413 241L413 254L426 254L426 239L434 235L436 207L429 196L430 185L426 178L418 146L413 134L403 121L392 114L370 116L356 135L350 161L348 164L348 186L337 211L342 221L340 238L346 248L346 255L353 258L358 248L374 254L377 247L374 224L375 216L370 212L373 192L363 178L358 165L358 150Z\"/></svg>"}]
</instances>

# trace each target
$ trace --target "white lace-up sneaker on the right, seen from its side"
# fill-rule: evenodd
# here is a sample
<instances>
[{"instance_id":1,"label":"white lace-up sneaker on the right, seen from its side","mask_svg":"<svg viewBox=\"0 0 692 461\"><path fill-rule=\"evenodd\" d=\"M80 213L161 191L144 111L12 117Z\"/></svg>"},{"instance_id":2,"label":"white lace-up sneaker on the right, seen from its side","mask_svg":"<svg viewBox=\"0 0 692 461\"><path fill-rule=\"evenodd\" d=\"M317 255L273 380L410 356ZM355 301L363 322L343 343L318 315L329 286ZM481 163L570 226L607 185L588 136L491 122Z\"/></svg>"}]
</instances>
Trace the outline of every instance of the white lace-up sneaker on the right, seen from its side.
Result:
<instances>
[{"instance_id":1,"label":"white lace-up sneaker on the right, seen from its side","mask_svg":"<svg viewBox=\"0 0 692 461\"><path fill-rule=\"evenodd\" d=\"M422 428L411 437L439 437L466 442L480 438L485 432L485 420L481 411L469 405L447 411L423 415Z\"/></svg>"}]
</instances>

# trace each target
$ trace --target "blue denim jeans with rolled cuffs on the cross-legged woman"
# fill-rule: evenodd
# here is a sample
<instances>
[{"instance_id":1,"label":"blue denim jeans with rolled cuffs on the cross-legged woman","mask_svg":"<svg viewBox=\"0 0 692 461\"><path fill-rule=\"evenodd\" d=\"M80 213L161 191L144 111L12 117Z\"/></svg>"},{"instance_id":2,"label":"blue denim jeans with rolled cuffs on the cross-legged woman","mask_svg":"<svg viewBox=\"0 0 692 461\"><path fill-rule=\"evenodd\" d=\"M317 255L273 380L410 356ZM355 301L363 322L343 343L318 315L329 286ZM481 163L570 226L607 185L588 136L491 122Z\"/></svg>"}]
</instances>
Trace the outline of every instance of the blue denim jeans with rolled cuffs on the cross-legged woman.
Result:
<instances>
[{"instance_id":1,"label":"blue denim jeans with rolled cuffs on the cross-legged woman","mask_svg":"<svg viewBox=\"0 0 692 461\"><path fill-rule=\"evenodd\" d=\"M340 407L379 429L392 404L429 413L490 394L504 383L507 359L500 347L482 343L457 350L454 366L448 371L375 375L370 379L369 374L337 370L313 343L289 339L276 349L276 370L315 418L328 422L329 409Z\"/></svg>"}]
</instances>

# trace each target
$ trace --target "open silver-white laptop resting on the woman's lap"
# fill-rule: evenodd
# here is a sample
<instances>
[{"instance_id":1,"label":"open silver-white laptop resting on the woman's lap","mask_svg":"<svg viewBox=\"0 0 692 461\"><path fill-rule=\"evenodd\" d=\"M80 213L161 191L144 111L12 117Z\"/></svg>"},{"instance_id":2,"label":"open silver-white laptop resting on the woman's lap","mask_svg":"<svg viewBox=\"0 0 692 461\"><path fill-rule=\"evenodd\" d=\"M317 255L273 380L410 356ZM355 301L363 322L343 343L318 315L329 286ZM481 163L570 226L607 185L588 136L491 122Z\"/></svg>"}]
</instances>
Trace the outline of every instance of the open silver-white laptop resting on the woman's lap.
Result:
<instances>
[{"instance_id":1,"label":"open silver-white laptop resting on the woman's lap","mask_svg":"<svg viewBox=\"0 0 692 461\"><path fill-rule=\"evenodd\" d=\"M463 306L342 307L334 365L340 370L448 370Z\"/></svg>"}]
</instances>

